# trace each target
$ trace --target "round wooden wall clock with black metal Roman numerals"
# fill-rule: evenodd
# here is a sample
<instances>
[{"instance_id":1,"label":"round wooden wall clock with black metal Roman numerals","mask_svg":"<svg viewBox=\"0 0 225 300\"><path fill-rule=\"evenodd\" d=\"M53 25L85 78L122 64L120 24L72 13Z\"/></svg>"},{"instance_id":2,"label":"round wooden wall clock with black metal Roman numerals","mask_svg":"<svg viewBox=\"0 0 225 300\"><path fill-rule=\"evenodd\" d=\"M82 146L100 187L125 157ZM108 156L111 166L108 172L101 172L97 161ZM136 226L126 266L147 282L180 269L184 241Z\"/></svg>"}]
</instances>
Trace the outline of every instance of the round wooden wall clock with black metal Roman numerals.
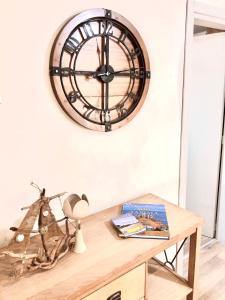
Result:
<instances>
[{"instance_id":1,"label":"round wooden wall clock with black metal Roman numerals","mask_svg":"<svg viewBox=\"0 0 225 300\"><path fill-rule=\"evenodd\" d=\"M73 17L52 48L50 77L67 114L93 130L110 131L142 106L150 81L143 40L121 15L91 9Z\"/></svg>"}]
</instances>

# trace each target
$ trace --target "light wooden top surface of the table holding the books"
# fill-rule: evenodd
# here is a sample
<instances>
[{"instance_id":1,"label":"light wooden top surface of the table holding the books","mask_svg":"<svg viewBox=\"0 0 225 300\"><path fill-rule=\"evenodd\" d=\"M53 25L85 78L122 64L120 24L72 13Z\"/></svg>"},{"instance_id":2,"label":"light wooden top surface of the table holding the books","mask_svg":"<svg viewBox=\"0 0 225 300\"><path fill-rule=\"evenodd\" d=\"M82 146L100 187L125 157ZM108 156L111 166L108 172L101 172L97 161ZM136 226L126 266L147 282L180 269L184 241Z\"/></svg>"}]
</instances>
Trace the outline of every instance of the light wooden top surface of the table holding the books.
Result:
<instances>
[{"instance_id":1,"label":"light wooden top surface of the table holding the books","mask_svg":"<svg viewBox=\"0 0 225 300\"><path fill-rule=\"evenodd\" d=\"M183 240L203 223L201 217L152 194L131 202L165 204L170 240L121 239L111 224L121 205L103 210L82 221L87 251L66 255L52 270L9 280L0 261L0 300L81 299Z\"/></svg>"}]
</instances>

